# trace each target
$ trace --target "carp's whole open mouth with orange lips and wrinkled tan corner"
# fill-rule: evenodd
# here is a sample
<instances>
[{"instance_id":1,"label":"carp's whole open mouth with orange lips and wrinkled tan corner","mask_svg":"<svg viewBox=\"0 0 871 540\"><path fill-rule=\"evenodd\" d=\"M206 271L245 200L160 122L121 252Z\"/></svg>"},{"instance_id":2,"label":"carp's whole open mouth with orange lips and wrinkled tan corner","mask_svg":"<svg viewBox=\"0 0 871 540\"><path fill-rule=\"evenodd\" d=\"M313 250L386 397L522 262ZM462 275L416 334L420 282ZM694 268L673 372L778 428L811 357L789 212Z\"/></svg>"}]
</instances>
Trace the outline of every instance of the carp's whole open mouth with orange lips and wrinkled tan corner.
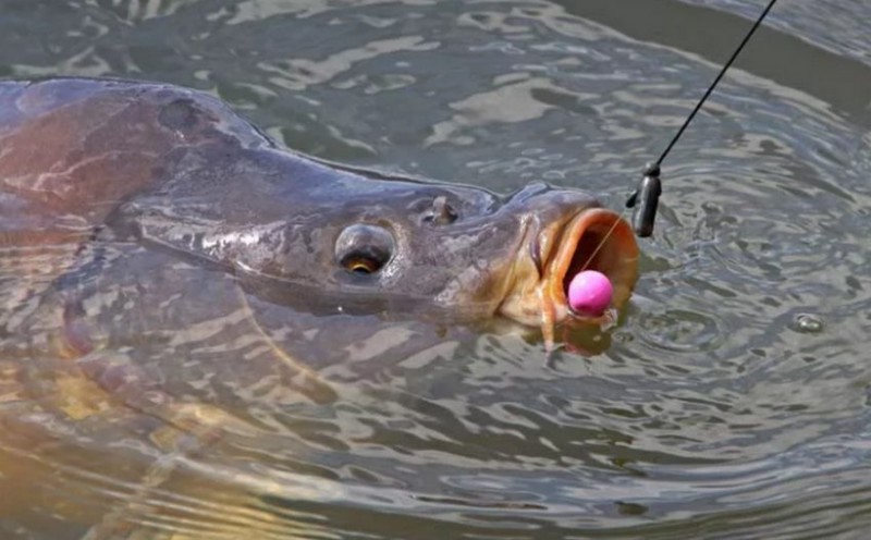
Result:
<instances>
[{"instance_id":1,"label":"carp's whole open mouth with orange lips and wrinkled tan corner","mask_svg":"<svg viewBox=\"0 0 871 540\"><path fill-rule=\"evenodd\" d=\"M526 240L529 260L518 260L514 284L500 307L502 315L528 326L540 326L545 342L561 322L599 322L602 317L575 312L568 304L572 279L596 270L613 286L612 308L622 307L638 279L638 244L631 226L604 208L587 208L564 219L530 228Z\"/></svg>"}]
</instances>

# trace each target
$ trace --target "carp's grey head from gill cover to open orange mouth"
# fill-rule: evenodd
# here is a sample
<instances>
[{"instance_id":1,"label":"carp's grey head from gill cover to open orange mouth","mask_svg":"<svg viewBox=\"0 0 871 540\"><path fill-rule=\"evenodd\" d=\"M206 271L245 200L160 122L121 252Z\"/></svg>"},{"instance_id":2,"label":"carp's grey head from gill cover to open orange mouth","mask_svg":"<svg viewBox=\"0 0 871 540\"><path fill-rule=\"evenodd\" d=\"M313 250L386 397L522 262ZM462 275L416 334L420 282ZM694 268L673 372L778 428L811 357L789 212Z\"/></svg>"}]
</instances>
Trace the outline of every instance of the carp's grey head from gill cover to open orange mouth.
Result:
<instances>
[{"instance_id":1,"label":"carp's grey head from gill cover to open orange mouth","mask_svg":"<svg viewBox=\"0 0 871 540\"><path fill-rule=\"evenodd\" d=\"M205 205L216 221L186 249L262 297L327 312L539 326L584 319L566 300L581 269L608 275L614 306L635 284L629 225L586 192L535 183L500 196L327 169L307 169L304 184L248 170L244 188Z\"/></svg>"}]
</instances>

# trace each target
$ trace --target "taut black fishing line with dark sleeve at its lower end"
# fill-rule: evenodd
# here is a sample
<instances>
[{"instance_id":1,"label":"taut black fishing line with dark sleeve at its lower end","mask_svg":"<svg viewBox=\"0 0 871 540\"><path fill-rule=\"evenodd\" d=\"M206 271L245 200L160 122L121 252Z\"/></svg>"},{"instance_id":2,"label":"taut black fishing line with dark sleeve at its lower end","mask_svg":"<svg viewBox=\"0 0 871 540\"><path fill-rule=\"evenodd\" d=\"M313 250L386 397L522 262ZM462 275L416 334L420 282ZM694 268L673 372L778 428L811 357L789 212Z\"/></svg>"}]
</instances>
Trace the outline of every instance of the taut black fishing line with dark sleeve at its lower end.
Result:
<instances>
[{"instance_id":1,"label":"taut black fishing line with dark sleeve at its lower end","mask_svg":"<svg viewBox=\"0 0 871 540\"><path fill-rule=\"evenodd\" d=\"M635 193L629 196L628 200L626 200L626 208L633 208L636 206L636 204L638 204L638 207L633 213L633 229L635 229L635 233L638 236L647 237L653 234L653 221L657 218L657 206L659 204L659 197L662 194L662 182L660 181L660 165L662 164L662 160L664 160L665 156L672 151L672 147L674 147L675 143L677 143L677 139L680 138L680 135L684 134L684 131L686 131L689 123L692 122L696 113L699 112L701 106L704 105L704 101L708 99L711 93L714 91L714 88L716 87L717 83L720 83L720 79L726 74L726 71L729 69L732 63L735 62L735 59L738 58L738 54L740 54L744 46L747 45L747 41L750 40L750 37L753 35L756 29L762 24L765 15L769 14L776 1L777 0L771 0L768 7L762 11L762 14L759 15L759 19L756 20L756 23L753 23L750 32L744 36L744 40L741 40L740 45L738 45L738 48L735 49L735 52L732 53L732 58L729 58L728 61L723 65L723 69L720 70L716 78L714 78L714 82L708 87L708 90L701 97L699 102L696 103L696 108L689 113L689 116L687 116L684 125L677 130L677 133L675 134L674 138L672 138L672 142L668 143L668 146L666 146L665 150L662 152L662 155L660 155L660 159L658 159L654 163L649 163L645 168L645 174L641 179L641 182L638 184L638 189L636 189Z\"/></svg>"}]
</instances>

